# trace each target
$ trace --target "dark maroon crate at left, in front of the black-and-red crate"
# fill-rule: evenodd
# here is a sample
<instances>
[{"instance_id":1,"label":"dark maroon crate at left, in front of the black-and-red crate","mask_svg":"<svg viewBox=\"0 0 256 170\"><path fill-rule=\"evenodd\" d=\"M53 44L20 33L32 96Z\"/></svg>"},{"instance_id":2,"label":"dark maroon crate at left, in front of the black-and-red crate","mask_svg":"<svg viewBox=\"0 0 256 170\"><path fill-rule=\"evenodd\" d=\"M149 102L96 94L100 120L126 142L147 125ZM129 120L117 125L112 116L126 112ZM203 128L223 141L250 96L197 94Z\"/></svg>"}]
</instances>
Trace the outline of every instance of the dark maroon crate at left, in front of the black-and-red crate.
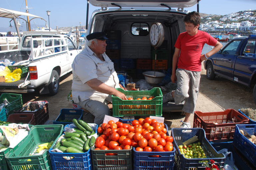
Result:
<instances>
[{"instance_id":1,"label":"dark maroon crate at left, in front of the black-and-red crate","mask_svg":"<svg viewBox=\"0 0 256 170\"><path fill-rule=\"evenodd\" d=\"M11 123L23 123L29 125L35 125L35 114L33 113L20 113L20 114L11 114L6 122Z\"/></svg>"}]
</instances>

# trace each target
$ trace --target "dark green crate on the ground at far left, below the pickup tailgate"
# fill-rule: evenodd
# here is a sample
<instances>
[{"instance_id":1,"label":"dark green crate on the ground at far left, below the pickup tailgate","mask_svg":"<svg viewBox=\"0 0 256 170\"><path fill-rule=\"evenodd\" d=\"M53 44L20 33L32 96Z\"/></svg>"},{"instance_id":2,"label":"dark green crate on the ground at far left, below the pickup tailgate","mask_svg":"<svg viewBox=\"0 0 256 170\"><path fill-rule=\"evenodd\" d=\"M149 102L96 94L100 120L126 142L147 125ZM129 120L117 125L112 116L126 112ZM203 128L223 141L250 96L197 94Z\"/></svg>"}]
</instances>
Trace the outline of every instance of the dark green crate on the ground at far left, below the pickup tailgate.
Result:
<instances>
[{"instance_id":1,"label":"dark green crate on the ground at far left, below the pickup tailgate","mask_svg":"<svg viewBox=\"0 0 256 170\"><path fill-rule=\"evenodd\" d=\"M9 104L4 107L7 110L6 117L13 114L14 110L19 110L23 107L21 94L3 93L0 96L0 103L3 103L4 99L7 99L9 102Z\"/></svg>"}]
</instances>

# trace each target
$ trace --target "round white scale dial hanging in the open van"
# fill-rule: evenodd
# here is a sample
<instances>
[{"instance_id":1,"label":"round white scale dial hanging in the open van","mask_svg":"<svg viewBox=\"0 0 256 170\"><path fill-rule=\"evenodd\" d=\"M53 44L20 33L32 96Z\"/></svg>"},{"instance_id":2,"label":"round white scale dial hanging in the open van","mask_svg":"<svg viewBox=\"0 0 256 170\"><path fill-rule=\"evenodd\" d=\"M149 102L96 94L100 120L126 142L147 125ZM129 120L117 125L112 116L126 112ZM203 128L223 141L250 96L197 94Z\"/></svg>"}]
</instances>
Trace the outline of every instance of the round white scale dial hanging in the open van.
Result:
<instances>
[{"instance_id":1,"label":"round white scale dial hanging in the open van","mask_svg":"<svg viewBox=\"0 0 256 170\"><path fill-rule=\"evenodd\" d=\"M152 46L159 47L164 41L164 28L161 23L154 22L149 30L149 41Z\"/></svg>"}]
</instances>

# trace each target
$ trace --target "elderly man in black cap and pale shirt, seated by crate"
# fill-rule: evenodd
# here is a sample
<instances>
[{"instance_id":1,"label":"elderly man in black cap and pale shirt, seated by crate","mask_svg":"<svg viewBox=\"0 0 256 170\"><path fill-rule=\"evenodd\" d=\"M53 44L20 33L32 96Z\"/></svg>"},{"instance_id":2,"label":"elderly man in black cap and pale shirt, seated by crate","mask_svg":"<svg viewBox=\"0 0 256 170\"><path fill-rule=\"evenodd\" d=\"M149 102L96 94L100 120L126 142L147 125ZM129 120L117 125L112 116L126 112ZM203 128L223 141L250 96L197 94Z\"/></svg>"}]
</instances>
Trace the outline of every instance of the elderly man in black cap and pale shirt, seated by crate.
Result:
<instances>
[{"instance_id":1,"label":"elderly man in black cap and pale shirt, seated by crate","mask_svg":"<svg viewBox=\"0 0 256 170\"><path fill-rule=\"evenodd\" d=\"M114 63L105 53L108 39L105 33L92 33L86 39L85 49L75 57L72 64L72 99L93 114L94 123L100 125L104 116L110 115L108 104L112 101L111 95L122 100L127 98L115 89L123 87L119 84Z\"/></svg>"}]
</instances>

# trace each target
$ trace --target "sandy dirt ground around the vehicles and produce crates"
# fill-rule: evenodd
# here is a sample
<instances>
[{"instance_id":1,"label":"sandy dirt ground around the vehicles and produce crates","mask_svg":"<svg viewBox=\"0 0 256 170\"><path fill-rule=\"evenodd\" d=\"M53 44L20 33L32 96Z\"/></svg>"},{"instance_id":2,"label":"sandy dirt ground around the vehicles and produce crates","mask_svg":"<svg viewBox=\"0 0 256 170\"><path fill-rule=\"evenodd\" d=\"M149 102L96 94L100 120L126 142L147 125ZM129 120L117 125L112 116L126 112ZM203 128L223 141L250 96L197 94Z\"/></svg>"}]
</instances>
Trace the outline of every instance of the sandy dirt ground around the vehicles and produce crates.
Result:
<instances>
[{"instance_id":1,"label":"sandy dirt ground around the vehicles and produce crates","mask_svg":"<svg viewBox=\"0 0 256 170\"><path fill-rule=\"evenodd\" d=\"M49 102L49 120L45 124L53 124L62 108L73 108L72 103L67 100L67 95L72 86L72 73L60 78L60 89L55 96L39 95L39 94L22 94L23 104L27 101L47 100ZM201 71L201 81L196 111L200 112L220 112L226 109L252 108L256 109L256 104L252 95L253 89L243 86L239 83L227 80L220 76L216 76L215 80L206 78L206 70ZM163 92L163 94L165 94ZM178 128L185 116L179 113L163 113L165 124L168 128ZM94 116L84 112L84 121L93 123ZM193 126L193 118L190 117L191 127Z\"/></svg>"}]
</instances>

